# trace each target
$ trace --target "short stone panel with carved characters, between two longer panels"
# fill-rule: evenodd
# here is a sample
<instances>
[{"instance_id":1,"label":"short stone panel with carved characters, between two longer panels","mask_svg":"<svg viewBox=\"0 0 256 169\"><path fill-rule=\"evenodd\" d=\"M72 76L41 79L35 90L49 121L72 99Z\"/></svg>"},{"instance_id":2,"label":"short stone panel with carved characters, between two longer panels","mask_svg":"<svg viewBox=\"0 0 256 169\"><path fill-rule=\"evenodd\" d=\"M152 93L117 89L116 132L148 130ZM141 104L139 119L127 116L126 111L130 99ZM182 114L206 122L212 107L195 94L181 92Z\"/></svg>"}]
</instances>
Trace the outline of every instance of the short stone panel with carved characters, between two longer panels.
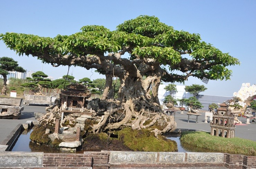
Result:
<instances>
[{"instance_id":1,"label":"short stone panel with carved characters, between two longer panels","mask_svg":"<svg viewBox=\"0 0 256 169\"><path fill-rule=\"evenodd\" d=\"M179 163L185 161L184 152L159 152L160 163Z\"/></svg>"}]
</instances>

